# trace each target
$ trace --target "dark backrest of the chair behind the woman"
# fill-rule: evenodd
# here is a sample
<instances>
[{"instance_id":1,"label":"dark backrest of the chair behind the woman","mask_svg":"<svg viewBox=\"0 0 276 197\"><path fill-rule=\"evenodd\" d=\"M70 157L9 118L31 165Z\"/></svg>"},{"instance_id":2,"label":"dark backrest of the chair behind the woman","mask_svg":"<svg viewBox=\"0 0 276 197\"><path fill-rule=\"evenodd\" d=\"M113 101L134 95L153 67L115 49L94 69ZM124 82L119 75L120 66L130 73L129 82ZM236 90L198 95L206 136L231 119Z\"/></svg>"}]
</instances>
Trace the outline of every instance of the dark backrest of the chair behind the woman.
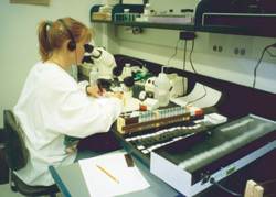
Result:
<instances>
[{"instance_id":1,"label":"dark backrest of the chair behind the woman","mask_svg":"<svg viewBox=\"0 0 276 197\"><path fill-rule=\"evenodd\" d=\"M17 125L14 116L11 110L3 111L4 124L4 150L8 165L12 171L23 168L29 158L29 151L25 147L23 133Z\"/></svg>"}]
</instances>

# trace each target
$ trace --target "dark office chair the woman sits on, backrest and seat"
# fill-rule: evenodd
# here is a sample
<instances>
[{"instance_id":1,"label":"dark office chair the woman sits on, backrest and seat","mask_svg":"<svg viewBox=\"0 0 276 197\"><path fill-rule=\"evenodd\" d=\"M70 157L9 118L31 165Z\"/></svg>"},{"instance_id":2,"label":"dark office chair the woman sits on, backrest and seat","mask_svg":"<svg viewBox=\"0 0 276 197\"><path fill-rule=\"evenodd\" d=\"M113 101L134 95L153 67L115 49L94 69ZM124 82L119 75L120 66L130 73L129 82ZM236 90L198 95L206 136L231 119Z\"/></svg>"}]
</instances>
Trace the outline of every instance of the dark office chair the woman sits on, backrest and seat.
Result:
<instances>
[{"instance_id":1,"label":"dark office chair the woman sits on, backrest and seat","mask_svg":"<svg viewBox=\"0 0 276 197\"><path fill-rule=\"evenodd\" d=\"M10 169L10 185L13 191L24 196L55 196L59 193L56 185L30 186L22 182L13 171L19 171L26 165L29 151L25 147L22 133L20 132L11 110L3 111L4 123L4 151Z\"/></svg>"}]
</instances>

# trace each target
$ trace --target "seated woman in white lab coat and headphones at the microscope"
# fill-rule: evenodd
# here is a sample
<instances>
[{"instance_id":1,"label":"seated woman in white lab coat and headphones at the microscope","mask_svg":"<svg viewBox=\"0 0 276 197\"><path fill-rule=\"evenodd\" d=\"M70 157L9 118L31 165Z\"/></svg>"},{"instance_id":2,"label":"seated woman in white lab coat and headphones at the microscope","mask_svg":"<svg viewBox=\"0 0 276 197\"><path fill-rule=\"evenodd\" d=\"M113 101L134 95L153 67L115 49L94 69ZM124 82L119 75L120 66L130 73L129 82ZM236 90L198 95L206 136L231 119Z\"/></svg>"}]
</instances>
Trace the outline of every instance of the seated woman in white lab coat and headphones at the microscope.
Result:
<instances>
[{"instance_id":1,"label":"seated woman in white lab coat and headphones at the microscope","mask_svg":"<svg viewBox=\"0 0 276 197\"><path fill-rule=\"evenodd\" d=\"M47 167L71 164L77 155L64 151L65 135L107 132L120 114L121 94L92 102L87 94L100 98L98 88L82 89L67 74L71 65L81 64L92 40L83 23L71 18L42 21L38 34L42 61L31 69L13 108L30 152L26 166L15 174L28 185L50 186L54 180Z\"/></svg>"}]
</instances>

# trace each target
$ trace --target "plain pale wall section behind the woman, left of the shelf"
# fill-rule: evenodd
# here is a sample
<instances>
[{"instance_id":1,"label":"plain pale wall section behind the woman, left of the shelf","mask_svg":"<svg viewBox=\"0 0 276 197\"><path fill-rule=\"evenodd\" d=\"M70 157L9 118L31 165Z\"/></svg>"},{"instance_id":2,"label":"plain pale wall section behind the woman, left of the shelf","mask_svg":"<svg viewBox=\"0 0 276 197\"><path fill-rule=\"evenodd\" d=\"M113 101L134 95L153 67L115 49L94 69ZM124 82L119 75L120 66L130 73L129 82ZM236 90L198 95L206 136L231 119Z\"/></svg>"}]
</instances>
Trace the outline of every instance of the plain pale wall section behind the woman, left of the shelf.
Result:
<instances>
[{"instance_id":1,"label":"plain pale wall section behind the woman, left of the shelf","mask_svg":"<svg viewBox=\"0 0 276 197\"><path fill-rule=\"evenodd\" d=\"M99 2L51 0L50 6L34 6L0 1L0 128L3 127L2 111L17 103L29 70L40 61L38 23L72 17L91 26L89 10Z\"/></svg>"}]
</instances>

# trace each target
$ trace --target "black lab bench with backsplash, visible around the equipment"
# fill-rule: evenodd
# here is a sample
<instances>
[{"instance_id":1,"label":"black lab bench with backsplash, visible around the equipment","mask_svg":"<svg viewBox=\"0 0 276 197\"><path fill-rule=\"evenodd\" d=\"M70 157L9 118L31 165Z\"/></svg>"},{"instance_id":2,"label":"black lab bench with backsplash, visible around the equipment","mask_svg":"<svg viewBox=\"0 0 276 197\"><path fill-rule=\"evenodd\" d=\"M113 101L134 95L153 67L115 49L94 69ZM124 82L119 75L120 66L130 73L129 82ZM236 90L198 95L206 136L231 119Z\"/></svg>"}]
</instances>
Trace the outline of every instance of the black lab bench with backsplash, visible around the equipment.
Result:
<instances>
[{"instance_id":1,"label":"black lab bench with backsplash, visible around the equipment","mask_svg":"<svg viewBox=\"0 0 276 197\"><path fill-rule=\"evenodd\" d=\"M117 63L118 64L118 63ZM124 63L119 63L123 64ZM151 67L151 72L158 74L160 72L160 65L147 63L149 67ZM276 95L262 91L258 89L254 89L251 87L245 87L241 85L236 85L229 81L223 81L220 79L214 79L211 77L202 76L199 74L193 74L189 72L179 70L176 68L168 68L166 73L177 73L182 77L188 78L188 94L192 91L195 83L201 83L205 86L212 87L222 92L222 97L219 102L210 108L203 109L204 114L216 112L227 117L229 122L236 120L241 117L247 116L250 113L263 117L265 119L269 119L276 121L276 112L275 112L275 103ZM86 79L86 76L81 76L79 79ZM135 91L135 97L137 94L142 90L142 87L139 87L137 91ZM261 105L262 103L262 105ZM174 107L174 103L170 103L168 108ZM190 121L185 122L187 124L192 123L192 121L200 119L202 117L192 118ZM168 128L173 125L168 125ZM176 125L177 127L177 125ZM150 156L149 154L141 154L141 152L136 149L131 143L129 143L126 139L136 136L142 133L156 132L158 129L152 129L150 131L142 131L140 133L132 133L128 135L124 135L117 132L116 124L113 125L112 132L114 135L120 141L121 146L131 153L137 161L139 161L144 166L146 166L145 171L149 171L150 168ZM213 128L215 129L215 127ZM275 133L275 131L274 131ZM270 140L275 140L275 134L269 135ZM269 139L268 139L269 140ZM224 187L235 193L243 194L245 189L245 184L248 179L254 179L256 182L265 182L272 180L276 177L276 150L273 149L270 152L266 153L264 156L253 161L245 167L238 169L233 173L229 177L222 179L220 183ZM181 196L181 194L178 194ZM195 196L226 196L226 193L216 186L212 186Z\"/></svg>"}]
</instances>

